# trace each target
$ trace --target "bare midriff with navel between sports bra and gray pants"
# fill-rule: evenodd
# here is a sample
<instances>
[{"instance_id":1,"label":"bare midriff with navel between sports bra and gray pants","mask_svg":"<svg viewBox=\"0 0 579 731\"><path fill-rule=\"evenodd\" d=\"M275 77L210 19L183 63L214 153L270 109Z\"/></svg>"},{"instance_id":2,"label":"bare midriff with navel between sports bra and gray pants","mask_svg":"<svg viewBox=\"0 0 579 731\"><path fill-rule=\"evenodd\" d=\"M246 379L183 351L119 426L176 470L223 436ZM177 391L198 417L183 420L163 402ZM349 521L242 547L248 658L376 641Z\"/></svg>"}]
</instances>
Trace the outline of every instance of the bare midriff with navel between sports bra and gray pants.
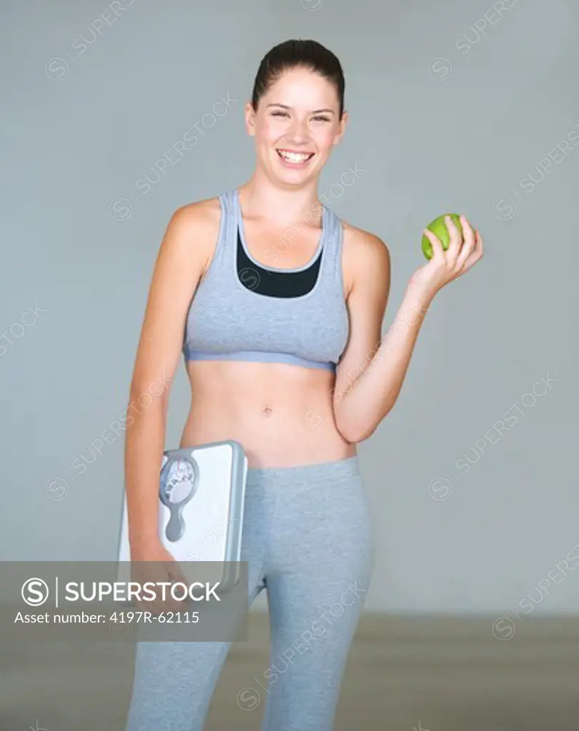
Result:
<instances>
[{"instance_id":1,"label":"bare midriff with navel between sports bra and gray pants","mask_svg":"<svg viewBox=\"0 0 579 731\"><path fill-rule=\"evenodd\" d=\"M336 427L335 375L287 363L186 363L192 404L181 447L232 439L249 467L289 467L356 454Z\"/></svg>"}]
</instances>

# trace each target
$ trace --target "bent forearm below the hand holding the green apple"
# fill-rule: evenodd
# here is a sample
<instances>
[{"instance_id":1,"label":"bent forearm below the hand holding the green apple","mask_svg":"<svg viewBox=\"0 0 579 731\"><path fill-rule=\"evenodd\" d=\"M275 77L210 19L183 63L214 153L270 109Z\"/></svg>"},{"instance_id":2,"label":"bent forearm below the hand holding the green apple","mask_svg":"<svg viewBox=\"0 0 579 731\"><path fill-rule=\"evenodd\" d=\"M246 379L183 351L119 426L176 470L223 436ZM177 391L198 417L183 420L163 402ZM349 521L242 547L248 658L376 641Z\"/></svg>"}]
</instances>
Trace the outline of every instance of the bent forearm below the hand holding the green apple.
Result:
<instances>
[{"instance_id":1,"label":"bent forearm below the hand holding the green apple","mask_svg":"<svg viewBox=\"0 0 579 731\"><path fill-rule=\"evenodd\" d=\"M341 431L351 442L368 439L396 403L431 301L430 295L406 289L386 336L334 395L336 423L344 425Z\"/></svg>"}]
</instances>

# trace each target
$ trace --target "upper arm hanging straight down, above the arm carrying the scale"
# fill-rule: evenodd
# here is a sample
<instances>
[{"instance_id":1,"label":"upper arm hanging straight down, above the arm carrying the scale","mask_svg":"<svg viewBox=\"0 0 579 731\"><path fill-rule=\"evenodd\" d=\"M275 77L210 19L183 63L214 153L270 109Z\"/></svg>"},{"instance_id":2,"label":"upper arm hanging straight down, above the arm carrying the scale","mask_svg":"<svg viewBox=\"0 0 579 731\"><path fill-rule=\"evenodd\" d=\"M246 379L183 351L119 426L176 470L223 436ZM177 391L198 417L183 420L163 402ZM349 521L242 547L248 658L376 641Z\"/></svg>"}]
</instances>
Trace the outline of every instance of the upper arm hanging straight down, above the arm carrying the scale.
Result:
<instances>
[{"instance_id":1,"label":"upper arm hanging straight down, above the arm carrying the scale","mask_svg":"<svg viewBox=\"0 0 579 731\"><path fill-rule=\"evenodd\" d=\"M211 238L216 238L219 221L213 219L202 201L178 208L167 225L148 292L131 390L173 380L189 305L208 261Z\"/></svg>"}]
</instances>

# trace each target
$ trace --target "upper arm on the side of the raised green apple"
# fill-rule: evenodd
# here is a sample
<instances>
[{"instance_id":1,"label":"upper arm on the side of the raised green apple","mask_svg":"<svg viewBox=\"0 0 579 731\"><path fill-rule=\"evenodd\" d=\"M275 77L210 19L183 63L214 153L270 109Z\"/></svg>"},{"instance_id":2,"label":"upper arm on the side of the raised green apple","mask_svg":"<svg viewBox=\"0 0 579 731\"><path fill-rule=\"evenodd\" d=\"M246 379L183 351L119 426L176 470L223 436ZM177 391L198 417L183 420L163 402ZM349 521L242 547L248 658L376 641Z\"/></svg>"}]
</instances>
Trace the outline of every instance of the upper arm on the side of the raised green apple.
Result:
<instances>
[{"instance_id":1,"label":"upper arm on the side of the raised green apple","mask_svg":"<svg viewBox=\"0 0 579 731\"><path fill-rule=\"evenodd\" d=\"M347 392L382 339L390 293L390 252L382 239L356 230L349 237L346 266L352 281L347 298L349 338L336 368L337 394Z\"/></svg>"}]
</instances>

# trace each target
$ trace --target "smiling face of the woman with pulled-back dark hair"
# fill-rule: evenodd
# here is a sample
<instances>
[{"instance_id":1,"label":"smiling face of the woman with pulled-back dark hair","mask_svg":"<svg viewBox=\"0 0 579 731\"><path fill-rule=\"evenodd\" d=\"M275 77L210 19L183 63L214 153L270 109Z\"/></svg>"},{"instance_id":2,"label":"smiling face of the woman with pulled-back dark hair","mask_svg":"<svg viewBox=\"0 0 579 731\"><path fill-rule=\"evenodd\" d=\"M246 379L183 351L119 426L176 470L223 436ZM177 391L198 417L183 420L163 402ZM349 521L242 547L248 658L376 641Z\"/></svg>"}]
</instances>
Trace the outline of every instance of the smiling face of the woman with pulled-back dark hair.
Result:
<instances>
[{"instance_id":1,"label":"smiling face of the woman with pulled-back dark hair","mask_svg":"<svg viewBox=\"0 0 579 731\"><path fill-rule=\"evenodd\" d=\"M246 126L255 137L257 163L270 180L302 186L319 175L347 122L339 118L336 87L317 72L288 69L260 98L246 105Z\"/></svg>"}]
</instances>

